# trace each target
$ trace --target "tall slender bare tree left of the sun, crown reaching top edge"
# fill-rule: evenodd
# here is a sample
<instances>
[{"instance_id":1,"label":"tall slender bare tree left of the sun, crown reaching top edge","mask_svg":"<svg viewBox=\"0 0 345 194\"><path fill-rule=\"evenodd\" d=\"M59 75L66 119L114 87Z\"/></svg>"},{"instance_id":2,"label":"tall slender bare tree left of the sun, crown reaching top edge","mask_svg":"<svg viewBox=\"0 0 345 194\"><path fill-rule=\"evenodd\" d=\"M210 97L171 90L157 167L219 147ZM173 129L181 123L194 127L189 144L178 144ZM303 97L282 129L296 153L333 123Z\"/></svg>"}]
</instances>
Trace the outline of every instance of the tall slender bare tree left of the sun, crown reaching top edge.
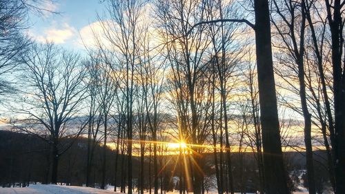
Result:
<instances>
[{"instance_id":1,"label":"tall slender bare tree left of the sun, crown reaching top edge","mask_svg":"<svg viewBox=\"0 0 345 194\"><path fill-rule=\"evenodd\" d=\"M108 19L101 19L101 28L108 44L103 45L103 53L115 58L111 63L112 73L118 76L117 83L121 92L126 97L126 135L128 155L128 193L132 193L132 140L134 122L134 92L136 65L139 64L139 48L141 47L140 35L142 28L139 25L140 16L143 14L145 1L118 1L109 0L106 12ZM109 46L110 44L110 46ZM108 46L108 47L107 47ZM108 52L110 51L110 52ZM108 57L108 59L110 59Z\"/></svg>"}]
</instances>

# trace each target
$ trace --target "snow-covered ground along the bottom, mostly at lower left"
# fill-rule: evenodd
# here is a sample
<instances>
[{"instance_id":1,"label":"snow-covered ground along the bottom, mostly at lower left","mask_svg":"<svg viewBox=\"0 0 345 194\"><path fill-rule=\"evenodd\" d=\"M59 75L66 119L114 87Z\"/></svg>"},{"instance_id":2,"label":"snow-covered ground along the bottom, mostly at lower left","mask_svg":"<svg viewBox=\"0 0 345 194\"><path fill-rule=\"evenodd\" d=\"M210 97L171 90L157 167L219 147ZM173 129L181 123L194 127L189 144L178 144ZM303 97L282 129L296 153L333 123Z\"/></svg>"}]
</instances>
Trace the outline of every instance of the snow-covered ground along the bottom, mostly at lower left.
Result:
<instances>
[{"instance_id":1,"label":"snow-covered ground along the bottom, mostly at lower left","mask_svg":"<svg viewBox=\"0 0 345 194\"><path fill-rule=\"evenodd\" d=\"M111 190L110 190L111 189ZM15 187L15 188L0 188L0 194L86 194L86 193L95 193L95 194L123 194L115 193L112 191L113 187L108 188L108 190L102 190L99 188L90 188L83 186L60 186L60 185L46 185L46 184L32 184L28 187ZM308 191L306 189L295 192L294 194L306 194ZM177 193L166 193L166 194L177 194ZM190 193L191 194L191 193ZM209 193L212 194L212 193ZM249 194L249 193L248 193Z\"/></svg>"}]
</instances>

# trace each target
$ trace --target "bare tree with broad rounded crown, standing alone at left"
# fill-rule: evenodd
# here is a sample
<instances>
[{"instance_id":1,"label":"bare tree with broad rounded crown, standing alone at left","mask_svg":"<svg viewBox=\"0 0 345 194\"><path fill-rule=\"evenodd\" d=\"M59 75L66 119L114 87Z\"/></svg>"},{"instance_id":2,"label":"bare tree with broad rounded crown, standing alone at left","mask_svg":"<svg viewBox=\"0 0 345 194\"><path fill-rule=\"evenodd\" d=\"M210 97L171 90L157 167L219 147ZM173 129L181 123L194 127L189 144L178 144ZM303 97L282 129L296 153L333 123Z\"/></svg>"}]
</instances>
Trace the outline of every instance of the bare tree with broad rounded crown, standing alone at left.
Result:
<instances>
[{"instance_id":1,"label":"bare tree with broad rounded crown, standing alone at left","mask_svg":"<svg viewBox=\"0 0 345 194\"><path fill-rule=\"evenodd\" d=\"M87 123L79 117L86 98L86 72L79 55L52 44L34 45L22 60L23 88L16 99L19 104L13 107L14 113L22 116L12 125L50 145L51 182L56 184L59 157L72 145L63 144L61 139L79 136Z\"/></svg>"}]
</instances>

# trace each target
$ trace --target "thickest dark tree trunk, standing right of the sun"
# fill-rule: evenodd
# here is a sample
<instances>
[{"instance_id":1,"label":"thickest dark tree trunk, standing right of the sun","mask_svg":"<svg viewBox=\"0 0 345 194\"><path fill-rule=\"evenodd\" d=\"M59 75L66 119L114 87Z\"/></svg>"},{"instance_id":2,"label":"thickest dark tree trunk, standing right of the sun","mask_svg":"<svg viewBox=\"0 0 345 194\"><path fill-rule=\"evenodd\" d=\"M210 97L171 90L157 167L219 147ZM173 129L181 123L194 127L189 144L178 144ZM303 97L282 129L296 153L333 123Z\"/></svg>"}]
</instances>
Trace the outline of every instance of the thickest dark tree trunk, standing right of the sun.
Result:
<instances>
[{"instance_id":1,"label":"thickest dark tree trunk, standing right of the sun","mask_svg":"<svg viewBox=\"0 0 345 194\"><path fill-rule=\"evenodd\" d=\"M255 6L255 43L257 75L264 147L266 193L288 194L286 171L279 131L275 79L270 39L270 12L267 0L257 0Z\"/></svg>"}]
</instances>

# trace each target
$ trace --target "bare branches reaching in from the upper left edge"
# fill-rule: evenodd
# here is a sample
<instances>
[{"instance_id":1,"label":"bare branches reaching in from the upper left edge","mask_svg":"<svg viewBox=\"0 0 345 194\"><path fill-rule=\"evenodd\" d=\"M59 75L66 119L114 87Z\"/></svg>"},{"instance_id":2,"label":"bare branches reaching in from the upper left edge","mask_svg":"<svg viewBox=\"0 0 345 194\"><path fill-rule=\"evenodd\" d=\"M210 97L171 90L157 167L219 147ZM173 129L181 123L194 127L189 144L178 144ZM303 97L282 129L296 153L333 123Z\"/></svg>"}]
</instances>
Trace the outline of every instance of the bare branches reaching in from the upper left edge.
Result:
<instances>
[{"instance_id":1,"label":"bare branches reaching in from the upper left edge","mask_svg":"<svg viewBox=\"0 0 345 194\"><path fill-rule=\"evenodd\" d=\"M19 55L26 52L31 43L23 34L28 28L28 13L39 11L34 1L10 0L0 1L0 94L13 93L11 79L5 75L19 64Z\"/></svg>"}]
</instances>

